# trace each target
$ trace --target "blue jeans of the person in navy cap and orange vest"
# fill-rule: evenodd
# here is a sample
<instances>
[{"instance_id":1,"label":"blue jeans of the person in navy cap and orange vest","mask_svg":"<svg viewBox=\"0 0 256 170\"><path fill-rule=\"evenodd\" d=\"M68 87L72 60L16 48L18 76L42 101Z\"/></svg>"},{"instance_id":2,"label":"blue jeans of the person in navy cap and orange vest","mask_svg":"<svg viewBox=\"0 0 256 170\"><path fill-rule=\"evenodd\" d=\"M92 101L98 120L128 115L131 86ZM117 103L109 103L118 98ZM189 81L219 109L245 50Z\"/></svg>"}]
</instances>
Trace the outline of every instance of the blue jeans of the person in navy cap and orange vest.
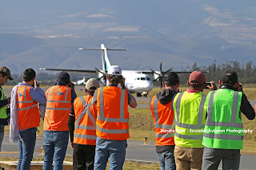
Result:
<instances>
[{"instance_id":1,"label":"blue jeans of the person in navy cap and orange vest","mask_svg":"<svg viewBox=\"0 0 256 170\"><path fill-rule=\"evenodd\" d=\"M42 169L54 170L63 168L63 160L66 156L66 148L69 141L68 131L45 131L43 133L43 148L45 149L45 158Z\"/></svg>"}]
</instances>

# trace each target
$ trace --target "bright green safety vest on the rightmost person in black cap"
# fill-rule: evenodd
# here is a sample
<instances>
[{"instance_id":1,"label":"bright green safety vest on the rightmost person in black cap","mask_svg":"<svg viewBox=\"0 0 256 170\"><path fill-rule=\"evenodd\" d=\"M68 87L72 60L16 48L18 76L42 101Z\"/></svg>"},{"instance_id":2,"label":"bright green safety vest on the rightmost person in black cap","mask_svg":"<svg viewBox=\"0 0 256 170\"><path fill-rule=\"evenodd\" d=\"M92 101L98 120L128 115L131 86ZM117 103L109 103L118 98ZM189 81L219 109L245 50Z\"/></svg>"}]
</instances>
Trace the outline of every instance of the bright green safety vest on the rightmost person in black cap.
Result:
<instances>
[{"instance_id":1,"label":"bright green safety vest on the rightmost person in black cap","mask_svg":"<svg viewBox=\"0 0 256 170\"><path fill-rule=\"evenodd\" d=\"M233 89L218 89L207 95L202 144L208 148L242 149L241 101L242 92Z\"/></svg>"}]
</instances>

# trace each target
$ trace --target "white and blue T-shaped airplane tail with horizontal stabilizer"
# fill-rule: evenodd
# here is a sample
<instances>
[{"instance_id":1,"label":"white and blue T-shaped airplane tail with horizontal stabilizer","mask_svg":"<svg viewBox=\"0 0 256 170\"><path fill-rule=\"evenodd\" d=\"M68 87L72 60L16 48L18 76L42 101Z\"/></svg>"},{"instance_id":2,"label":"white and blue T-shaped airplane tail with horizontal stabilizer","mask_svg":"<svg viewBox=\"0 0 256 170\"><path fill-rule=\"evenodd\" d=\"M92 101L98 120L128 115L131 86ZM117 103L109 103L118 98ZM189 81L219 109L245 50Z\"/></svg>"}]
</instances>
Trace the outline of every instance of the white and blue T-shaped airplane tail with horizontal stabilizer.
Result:
<instances>
[{"instance_id":1,"label":"white and blue T-shaped airplane tail with horizontal stabilizer","mask_svg":"<svg viewBox=\"0 0 256 170\"><path fill-rule=\"evenodd\" d=\"M106 49L105 45L102 44L101 48L79 48L80 50L82 49L88 49L88 50L102 50L102 69L105 71L105 73L107 73L107 70L110 68L111 64L110 64L110 60L107 57L107 50L115 50L115 51L127 51L127 49Z\"/></svg>"}]
</instances>

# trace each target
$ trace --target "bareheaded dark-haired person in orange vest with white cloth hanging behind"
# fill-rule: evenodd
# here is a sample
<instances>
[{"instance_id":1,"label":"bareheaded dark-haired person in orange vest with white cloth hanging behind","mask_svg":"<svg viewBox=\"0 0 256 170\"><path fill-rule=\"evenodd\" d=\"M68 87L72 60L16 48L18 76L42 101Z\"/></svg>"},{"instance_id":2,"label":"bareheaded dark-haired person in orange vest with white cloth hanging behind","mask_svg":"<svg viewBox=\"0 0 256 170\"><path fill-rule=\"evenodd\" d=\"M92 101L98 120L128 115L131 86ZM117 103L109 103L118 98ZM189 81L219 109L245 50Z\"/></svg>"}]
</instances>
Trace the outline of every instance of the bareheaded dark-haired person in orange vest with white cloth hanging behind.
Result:
<instances>
[{"instance_id":1,"label":"bareheaded dark-haired person in orange vest with white cloth hanging behind","mask_svg":"<svg viewBox=\"0 0 256 170\"><path fill-rule=\"evenodd\" d=\"M10 100L10 142L18 141L19 158L17 169L30 169L34 154L36 132L40 124L38 103L45 105L44 91L35 81L34 69L25 69L22 82L11 91ZM34 85L34 87L32 87Z\"/></svg>"}]
</instances>

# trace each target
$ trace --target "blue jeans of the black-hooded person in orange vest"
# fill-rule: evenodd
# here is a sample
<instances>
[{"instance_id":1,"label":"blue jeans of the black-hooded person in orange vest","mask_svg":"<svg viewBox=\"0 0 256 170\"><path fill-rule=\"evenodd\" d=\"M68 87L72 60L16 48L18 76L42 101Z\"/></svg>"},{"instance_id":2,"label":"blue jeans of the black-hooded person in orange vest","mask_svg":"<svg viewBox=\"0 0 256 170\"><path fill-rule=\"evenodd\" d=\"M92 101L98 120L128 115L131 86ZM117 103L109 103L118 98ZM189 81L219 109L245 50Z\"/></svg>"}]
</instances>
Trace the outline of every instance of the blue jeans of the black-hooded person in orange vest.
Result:
<instances>
[{"instance_id":1,"label":"blue jeans of the black-hooded person in orange vest","mask_svg":"<svg viewBox=\"0 0 256 170\"><path fill-rule=\"evenodd\" d=\"M157 154L161 170L176 169L174 149L164 152L157 152Z\"/></svg>"}]
</instances>

